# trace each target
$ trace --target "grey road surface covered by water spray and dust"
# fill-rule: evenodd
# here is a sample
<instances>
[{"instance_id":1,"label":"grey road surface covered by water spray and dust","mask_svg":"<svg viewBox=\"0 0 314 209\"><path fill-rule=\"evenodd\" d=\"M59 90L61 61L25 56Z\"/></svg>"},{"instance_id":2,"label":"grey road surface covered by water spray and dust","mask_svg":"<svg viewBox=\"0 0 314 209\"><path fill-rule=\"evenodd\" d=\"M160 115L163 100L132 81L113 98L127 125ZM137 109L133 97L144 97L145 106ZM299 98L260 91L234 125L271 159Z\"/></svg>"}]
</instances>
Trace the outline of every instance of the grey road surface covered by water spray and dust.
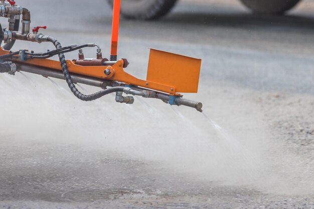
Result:
<instances>
[{"instance_id":1,"label":"grey road surface covered by water spray and dust","mask_svg":"<svg viewBox=\"0 0 314 209\"><path fill-rule=\"evenodd\" d=\"M314 3L272 17L192 2L160 21L121 20L118 54L140 78L148 48L202 58L199 93L185 96L204 114L113 95L85 103L64 81L0 75L0 208L314 208ZM18 3L62 45L95 42L108 57L105 1ZM26 48L53 46L13 50Z\"/></svg>"}]
</instances>

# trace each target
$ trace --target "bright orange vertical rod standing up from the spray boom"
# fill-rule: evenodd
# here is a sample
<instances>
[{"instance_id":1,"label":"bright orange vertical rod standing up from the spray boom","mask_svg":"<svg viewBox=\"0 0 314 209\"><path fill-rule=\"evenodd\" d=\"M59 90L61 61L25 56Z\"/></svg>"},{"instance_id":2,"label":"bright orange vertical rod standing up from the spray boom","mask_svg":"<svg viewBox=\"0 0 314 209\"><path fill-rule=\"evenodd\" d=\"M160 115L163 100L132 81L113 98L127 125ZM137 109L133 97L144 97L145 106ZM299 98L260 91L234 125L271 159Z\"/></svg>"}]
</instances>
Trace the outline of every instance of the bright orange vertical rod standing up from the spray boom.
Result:
<instances>
[{"instance_id":1,"label":"bright orange vertical rod standing up from the spray boom","mask_svg":"<svg viewBox=\"0 0 314 209\"><path fill-rule=\"evenodd\" d=\"M113 1L110 61L117 60L120 2L121 2L120 0Z\"/></svg>"}]
</instances>

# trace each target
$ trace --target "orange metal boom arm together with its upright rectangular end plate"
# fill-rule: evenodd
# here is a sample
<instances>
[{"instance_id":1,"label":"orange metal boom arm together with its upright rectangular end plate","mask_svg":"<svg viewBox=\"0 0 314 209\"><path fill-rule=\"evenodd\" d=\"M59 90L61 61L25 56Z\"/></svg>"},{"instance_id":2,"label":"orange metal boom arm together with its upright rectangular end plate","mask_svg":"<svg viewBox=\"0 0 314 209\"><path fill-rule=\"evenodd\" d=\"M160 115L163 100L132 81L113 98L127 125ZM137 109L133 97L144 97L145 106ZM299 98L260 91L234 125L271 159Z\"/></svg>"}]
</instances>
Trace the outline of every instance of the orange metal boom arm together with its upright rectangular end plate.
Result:
<instances>
[{"instance_id":1,"label":"orange metal boom arm together with its upright rectangular end plate","mask_svg":"<svg viewBox=\"0 0 314 209\"><path fill-rule=\"evenodd\" d=\"M0 49L0 55L9 53ZM55 60L32 59L16 62L61 71L60 62ZM147 80L141 80L124 71L123 60L117 61L112 66L80 66L67 60L68 70L71 73L119 81L171 95L180 95L178 92L197 92L200 65L199 59L151 50ZM110 70L110 75L104 73L106 69Z\"/></svg>"}]
</instances>

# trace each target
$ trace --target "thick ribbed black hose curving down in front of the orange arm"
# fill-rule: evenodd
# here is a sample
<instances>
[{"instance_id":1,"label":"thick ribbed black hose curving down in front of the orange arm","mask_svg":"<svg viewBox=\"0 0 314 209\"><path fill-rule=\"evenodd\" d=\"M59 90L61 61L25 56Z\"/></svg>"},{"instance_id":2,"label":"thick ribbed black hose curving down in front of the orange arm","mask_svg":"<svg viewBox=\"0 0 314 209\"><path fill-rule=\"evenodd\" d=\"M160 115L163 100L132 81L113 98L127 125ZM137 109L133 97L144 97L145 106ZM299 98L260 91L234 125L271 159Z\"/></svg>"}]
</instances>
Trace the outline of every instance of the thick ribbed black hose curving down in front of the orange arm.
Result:
<instances>
[{"instance_id":1,"label":"thick ribbed black hose curving down in front of the orange arm","mask_svg":"<svg viewBox=\"0 0 314 209\"><path fill-rule=\"evenodd\" d=\"M48 37L47 40L49 42L53 43L55 45L56 49L62 48L60 42L58 42L55 38ZM107 94L114 93L114 92L123 92L123 90L124 90L124 87L119 86L119 87L112 87L110 89L105 89L105 90L96 92L94 94L84 95L75 87L75 85L72 81L70 72L68 70L67 63L66 63L66 60L65 60L63 53L59 54L59 60L60 60L63 75L65 77L65 80L66 80L68 86L70 87L72 93L80 100L92 101L95 99L99 99L100 97L105 96Z\"/></svg>"}]
</instances>

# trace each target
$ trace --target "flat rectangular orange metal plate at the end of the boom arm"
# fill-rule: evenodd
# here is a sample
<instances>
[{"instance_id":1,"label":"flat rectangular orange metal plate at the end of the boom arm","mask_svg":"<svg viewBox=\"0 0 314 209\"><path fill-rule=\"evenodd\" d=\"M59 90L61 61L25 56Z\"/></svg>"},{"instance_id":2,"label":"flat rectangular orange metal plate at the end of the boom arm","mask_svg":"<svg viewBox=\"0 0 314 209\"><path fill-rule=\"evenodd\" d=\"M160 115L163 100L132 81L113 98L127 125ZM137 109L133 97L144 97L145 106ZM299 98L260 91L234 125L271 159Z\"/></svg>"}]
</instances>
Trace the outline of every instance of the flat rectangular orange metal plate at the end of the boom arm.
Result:
<instances>
[{"instance_id":1,"label":"flat rectangular orange metal plate at the end of the boom arm","mask_svg":"<svg viewBox=\"0 0 314 209\"><path fill-rule=\"evenodd\" d=\"M175 86L176 92L197 93L202 60L150 49L147 81Z\"/></svg>"}]
</instances>

